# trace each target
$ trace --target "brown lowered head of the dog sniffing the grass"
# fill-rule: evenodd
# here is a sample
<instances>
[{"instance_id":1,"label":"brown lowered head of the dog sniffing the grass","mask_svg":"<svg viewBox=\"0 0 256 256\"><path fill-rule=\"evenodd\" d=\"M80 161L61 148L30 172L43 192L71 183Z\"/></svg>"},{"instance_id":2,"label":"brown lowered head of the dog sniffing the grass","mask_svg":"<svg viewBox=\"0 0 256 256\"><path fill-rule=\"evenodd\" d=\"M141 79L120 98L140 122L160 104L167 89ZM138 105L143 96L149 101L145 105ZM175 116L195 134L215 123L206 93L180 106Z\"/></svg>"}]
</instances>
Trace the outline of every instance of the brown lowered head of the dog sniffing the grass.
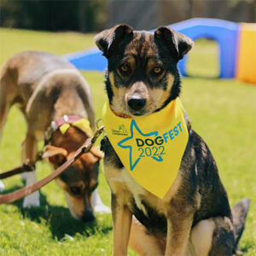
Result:
<instances>
[{"instance_id":1,"label":"brown lowered head of the dog sniffing the grass","mask_svg":"<svg viewBox=\"0 0 256 256\"><path fill-rule=\"evenodd\" d=\"M48 158L57 168L66 160L73 158L86 138L83 132L72 126L64 135L61 131L55 131L51 145L45 147L43 157ZM98 184L99 161L102 157L100 149L93 147L89 153L82 154L73 165L56 178L56 183L65 192L67 205L74 218L84 221L94 218L91 195Z\"/></svg>"}]
</instances>

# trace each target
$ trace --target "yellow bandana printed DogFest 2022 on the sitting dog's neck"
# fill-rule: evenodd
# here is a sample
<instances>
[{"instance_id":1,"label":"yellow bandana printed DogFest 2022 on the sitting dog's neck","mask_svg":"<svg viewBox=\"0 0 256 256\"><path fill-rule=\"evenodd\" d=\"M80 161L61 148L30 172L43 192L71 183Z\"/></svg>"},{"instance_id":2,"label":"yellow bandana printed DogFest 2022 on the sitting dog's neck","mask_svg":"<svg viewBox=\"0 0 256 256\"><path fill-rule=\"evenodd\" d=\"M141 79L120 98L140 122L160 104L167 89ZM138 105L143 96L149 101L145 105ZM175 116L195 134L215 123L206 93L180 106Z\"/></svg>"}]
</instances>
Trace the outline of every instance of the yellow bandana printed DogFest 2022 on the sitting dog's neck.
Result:
<instances>
[{"instance_id":1,"label":"yellow bandana printed DogFest 2022 on the sitting dog's neck","mask_svg":"<svg viewBox=\"0 0 256 256\"><path fill-rule=\"evenodd\" d=\"M163 198L177 177L189 133L179 98L145 117L116 116L106 102L102 118L119 159L141 186Z\"/></svg>"}]
</instances>

